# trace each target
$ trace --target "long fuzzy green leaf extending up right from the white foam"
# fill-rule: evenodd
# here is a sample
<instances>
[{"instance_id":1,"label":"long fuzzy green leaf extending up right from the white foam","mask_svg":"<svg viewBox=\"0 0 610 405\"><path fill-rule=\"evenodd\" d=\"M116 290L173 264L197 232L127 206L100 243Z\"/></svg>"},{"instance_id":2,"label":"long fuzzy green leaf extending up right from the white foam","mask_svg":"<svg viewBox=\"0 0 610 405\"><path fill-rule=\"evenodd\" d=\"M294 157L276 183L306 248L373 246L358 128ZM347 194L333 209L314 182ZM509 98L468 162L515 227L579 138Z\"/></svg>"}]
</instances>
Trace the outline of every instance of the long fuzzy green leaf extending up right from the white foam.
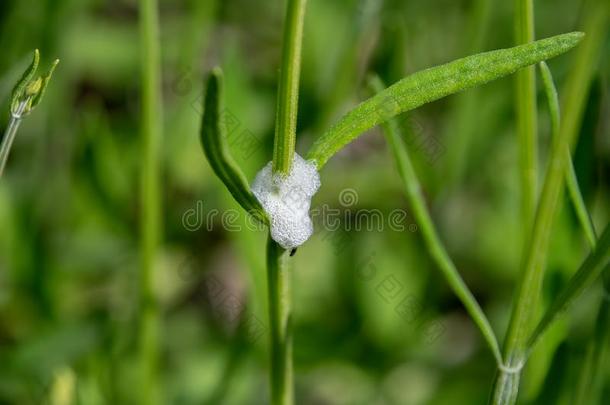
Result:
<instances>
[{"instance_id":1,"label":"long fuzzy green leaf extending up right from the white foam","mask_svg":"<svg viewBox=\"0 0 610 405\"><path fill-rule=\"evenodd\" d=\"M561 55L583 38L573 32L510 49L481 53L414 73L364 101L341 118L312 146L307 158L322 168L341 148L388 119Z\"/></svg>"}]
</instances>

